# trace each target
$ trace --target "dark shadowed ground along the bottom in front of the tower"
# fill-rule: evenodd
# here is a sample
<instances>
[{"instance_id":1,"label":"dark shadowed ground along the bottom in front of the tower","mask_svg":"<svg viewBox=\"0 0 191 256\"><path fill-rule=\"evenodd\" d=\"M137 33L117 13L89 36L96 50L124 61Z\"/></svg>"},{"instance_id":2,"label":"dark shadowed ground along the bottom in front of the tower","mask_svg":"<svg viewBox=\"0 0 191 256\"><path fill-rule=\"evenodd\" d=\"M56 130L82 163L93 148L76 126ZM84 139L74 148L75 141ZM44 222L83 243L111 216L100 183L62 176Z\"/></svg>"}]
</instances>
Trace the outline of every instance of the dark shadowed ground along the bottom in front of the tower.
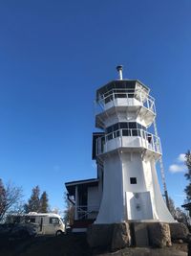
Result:
<instances>
[{"instance_id":1,"label":"dark shadowed ground along the bottom in front of the tower","mask_svg":"<svg viewBox=\"0 0 191 256\"><path fill-rule=\"evenodd\" d=\"M69 234L60 237L38 237L20 241L0 239L0 256L186 256L187 244L170 248L124 248L116 252L91 249L86 236Z\"/></svg>"}]
</instances>

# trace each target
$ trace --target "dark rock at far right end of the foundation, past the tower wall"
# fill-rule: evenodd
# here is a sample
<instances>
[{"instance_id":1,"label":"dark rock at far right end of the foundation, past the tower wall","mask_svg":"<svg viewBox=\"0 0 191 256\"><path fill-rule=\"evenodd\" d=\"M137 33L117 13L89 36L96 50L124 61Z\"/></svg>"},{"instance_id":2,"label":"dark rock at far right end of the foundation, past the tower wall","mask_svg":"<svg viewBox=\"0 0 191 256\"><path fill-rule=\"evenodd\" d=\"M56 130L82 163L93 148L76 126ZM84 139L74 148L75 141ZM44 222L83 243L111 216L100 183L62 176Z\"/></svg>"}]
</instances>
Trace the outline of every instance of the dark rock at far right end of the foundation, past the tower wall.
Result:
<instances>
[{"instance_id":1,"label":"dark rock at far right end of the foundation, past the tower wall","mask_svg":"<svg viewBox=\"0 0 191 256\"><path fill-rule=\"evenodd\" d=\"M182 239L186 241L189 230L185 224L180 222L169 223L172 241Z\"/></svg>"}]
</instances>

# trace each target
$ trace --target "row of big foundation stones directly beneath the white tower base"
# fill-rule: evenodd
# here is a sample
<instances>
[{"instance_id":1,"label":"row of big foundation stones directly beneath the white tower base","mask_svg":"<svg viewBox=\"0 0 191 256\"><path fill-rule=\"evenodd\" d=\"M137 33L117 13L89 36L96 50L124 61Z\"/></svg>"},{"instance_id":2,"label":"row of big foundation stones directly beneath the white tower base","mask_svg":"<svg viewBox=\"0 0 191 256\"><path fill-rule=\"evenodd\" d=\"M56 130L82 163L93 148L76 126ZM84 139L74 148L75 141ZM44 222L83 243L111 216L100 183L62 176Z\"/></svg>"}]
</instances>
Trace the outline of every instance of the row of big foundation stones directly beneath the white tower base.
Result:
<instances>
[{"instance_id":1,"label":"row of big foundation stones directly beneath the white tower base","mask_svg":"<svg viewBox=\"0 0 191 256\"><path fill-rule=\"evenodd\" d=\"M91 247L112 251L130 245L138 247L171 246L170 227L162 222L122 222L92 224L88 227L87 241Z\"/></svg>"}]
</instances>

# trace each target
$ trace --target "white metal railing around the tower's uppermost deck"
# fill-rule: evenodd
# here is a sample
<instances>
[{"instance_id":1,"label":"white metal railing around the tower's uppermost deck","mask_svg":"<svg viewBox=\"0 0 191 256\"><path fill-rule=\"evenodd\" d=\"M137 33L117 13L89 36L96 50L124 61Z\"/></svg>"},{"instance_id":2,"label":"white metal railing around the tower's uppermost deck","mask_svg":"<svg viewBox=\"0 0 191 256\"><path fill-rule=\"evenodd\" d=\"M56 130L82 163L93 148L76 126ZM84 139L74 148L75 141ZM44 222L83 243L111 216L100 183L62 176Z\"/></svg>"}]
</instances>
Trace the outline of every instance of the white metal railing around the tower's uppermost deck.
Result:
<instances>
[{"instance_id":1,"label":"white metal railing around the tower's uppermost deck","mask_svg":"<svg viewBox=\"0 0 191 256\"><path fill-rule=\"evenodd\" d=\"M117 105L117 99L126 99L124 105L142 105L150 111L156 113L155 99L141 90L132 89L112 89L103 95L100 95L97 100L97 104L104 110L108 103ZM138 103L131 101L130 99L136 99ZM100 112L96 111L96 112Z\"/></svg>"}]
</instances>

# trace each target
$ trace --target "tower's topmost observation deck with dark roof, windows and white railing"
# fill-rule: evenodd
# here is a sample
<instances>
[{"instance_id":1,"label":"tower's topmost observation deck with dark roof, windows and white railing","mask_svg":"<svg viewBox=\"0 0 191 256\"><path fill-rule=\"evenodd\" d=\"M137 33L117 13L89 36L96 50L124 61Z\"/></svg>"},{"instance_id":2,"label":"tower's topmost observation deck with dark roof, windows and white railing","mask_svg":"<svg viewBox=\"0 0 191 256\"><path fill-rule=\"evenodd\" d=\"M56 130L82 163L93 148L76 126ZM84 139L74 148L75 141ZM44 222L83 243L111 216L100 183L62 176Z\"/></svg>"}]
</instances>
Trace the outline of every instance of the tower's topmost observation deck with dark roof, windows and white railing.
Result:
<instances>
[{"instance_id":1,"label":"tower's topmost observation deck with dark roof, windows and white railing","mask_svg":"<svg viewBox=\"0 0 191 256\"><path fill-rule=\"evenodd\" d=\"M136 112L145 126L149 127L155 117L155 99L140 81L111 81L96 93L96 128L105 128L105 120L114 114Z\"/></svg>"}]
</instances>

